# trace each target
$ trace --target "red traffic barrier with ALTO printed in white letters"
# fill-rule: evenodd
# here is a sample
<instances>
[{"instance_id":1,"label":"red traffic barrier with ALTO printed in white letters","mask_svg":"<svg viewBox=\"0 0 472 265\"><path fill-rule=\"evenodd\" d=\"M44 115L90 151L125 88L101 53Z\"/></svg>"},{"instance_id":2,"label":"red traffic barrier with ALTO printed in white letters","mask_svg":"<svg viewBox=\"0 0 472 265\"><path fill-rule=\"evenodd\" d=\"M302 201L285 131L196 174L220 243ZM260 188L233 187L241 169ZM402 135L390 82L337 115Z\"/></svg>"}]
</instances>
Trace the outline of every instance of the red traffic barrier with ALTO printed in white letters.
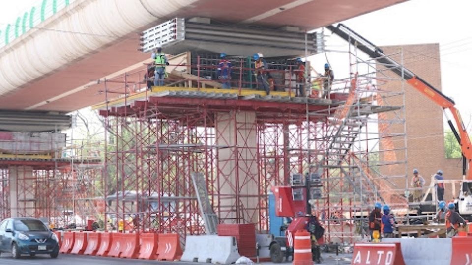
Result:
<instances>
[{"instance_id":1,"label":"red traffic barrier with ALTO printed in white letters","mask_svg":"<svg viewBox=\"0 0 472 265\"><path fill-rule=\"evenodd\" d=\"M351 265L405 265L400 243L355 243Z\"/></svg>"}]
</instances>

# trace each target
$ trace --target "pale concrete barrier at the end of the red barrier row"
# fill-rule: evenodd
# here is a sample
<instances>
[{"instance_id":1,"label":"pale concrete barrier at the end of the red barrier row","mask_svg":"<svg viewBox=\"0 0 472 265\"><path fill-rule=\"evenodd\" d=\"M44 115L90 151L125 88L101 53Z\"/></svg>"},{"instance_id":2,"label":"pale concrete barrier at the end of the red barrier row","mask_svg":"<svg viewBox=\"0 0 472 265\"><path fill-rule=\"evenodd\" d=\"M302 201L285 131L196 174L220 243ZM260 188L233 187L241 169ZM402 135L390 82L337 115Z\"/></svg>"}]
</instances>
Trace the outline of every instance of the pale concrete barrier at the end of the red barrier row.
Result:
<instances>
[{"instance_id":1,"label":"pale concrete barrier at the end of the red barrier row","mask_svg":"<svg viewBox=\"0 0 472 265\"><path fill-rule=\"evenodd\" d=\"M185 240L185 251L181 261L207 263L211 260L216 264L235 263L239 258L236 238L230 236L187 235Z\"/></svg>"}]
</instances>

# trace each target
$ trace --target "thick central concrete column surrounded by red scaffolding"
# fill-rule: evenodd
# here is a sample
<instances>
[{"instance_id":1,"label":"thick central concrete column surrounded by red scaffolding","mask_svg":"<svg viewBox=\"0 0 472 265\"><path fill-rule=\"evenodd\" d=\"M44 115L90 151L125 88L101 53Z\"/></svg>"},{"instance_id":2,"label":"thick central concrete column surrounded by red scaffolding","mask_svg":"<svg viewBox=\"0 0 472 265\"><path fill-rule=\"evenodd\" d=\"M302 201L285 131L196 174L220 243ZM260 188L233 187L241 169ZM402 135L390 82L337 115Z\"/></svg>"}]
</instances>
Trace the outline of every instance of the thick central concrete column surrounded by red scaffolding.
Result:
<instances>
[{"instance_id":1,"label":"thick central concrete column surrounded by red scaffolding","mask_svg":"<svg viewBox=\"0 0 472 265\"><path fill-rule=\"evenodd\" d=\"M259 175L256 113L232 111L216 114L219 209L227 223L258 222Z\"/></svg>"}]
</instances>

